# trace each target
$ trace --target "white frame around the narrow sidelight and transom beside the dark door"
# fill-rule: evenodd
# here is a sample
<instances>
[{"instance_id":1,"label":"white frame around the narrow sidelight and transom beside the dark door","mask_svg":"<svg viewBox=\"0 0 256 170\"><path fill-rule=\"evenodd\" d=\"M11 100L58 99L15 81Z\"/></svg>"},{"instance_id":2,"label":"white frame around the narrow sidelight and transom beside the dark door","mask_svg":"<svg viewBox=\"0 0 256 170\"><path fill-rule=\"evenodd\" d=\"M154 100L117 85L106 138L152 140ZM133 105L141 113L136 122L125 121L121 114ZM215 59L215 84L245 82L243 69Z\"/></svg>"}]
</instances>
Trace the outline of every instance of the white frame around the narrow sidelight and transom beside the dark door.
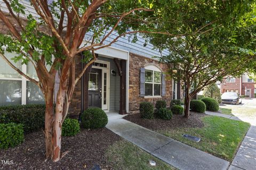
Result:
<instances>
[{"instance_id":1,"label":"white frame around the narrow sidelight and transom beside the dark door","mask_svg":"<svg viewBox=\"0 0 256 170\"><path fill-rule=\"evenodd\" d=\"M107 68L106 67L100 67L100 66L92 66L92 68L94 69L100 69L101 72L101 108L102 110L104 110L105 112L109 112L109 87L110 87L110 63L107 61L102 61L102 60L96 60L95 63L101 63L101 64L107 64ZM104 73L107 73L107 104L104 105L103 104L103 99L104 99Z\"/></svg>"}]
</instances>

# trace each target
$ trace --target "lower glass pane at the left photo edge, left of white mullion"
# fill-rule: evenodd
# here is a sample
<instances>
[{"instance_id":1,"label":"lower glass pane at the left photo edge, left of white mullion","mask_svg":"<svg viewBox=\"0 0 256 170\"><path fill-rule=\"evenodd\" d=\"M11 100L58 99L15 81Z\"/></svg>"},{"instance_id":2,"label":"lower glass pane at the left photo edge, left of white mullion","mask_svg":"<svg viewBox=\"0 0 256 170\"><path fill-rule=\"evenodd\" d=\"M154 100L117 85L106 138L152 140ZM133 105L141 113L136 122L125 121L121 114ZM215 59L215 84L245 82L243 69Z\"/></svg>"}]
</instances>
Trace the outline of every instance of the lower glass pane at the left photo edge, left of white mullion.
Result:
<instances>
[{"instance_id":1,"label":"lower glass pane at the left photo edge, left of white mullion","mask_svg":"<svg viewBox=\"0 0 256 170\"><path fill-rule=\"evenodd\" d=\"M0 106L21 104L21 81L0 80Z\"/></svg>"}]
</instances>

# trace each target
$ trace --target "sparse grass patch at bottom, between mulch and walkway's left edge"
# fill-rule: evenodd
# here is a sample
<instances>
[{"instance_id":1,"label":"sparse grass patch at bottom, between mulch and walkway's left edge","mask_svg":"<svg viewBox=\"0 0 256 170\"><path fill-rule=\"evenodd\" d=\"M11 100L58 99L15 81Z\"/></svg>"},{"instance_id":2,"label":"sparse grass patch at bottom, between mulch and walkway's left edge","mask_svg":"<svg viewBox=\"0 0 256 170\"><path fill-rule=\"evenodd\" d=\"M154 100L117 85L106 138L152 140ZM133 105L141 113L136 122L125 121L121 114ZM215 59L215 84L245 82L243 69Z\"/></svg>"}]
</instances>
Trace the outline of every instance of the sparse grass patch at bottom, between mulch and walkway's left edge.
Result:
<instances>
[{"instance_id":1,"label":"sparse grass patch at bottom, between mulch and walkway's left edge","mask_svg":"<svg viewBox=\"0 0 256 170\"><path fill-rule=\"evenodd\" d=\"M107 165L113 167L113 169L175 169L124 140L118 141L109 147L106 152L106 158ZM150 166L149 160L154 160L156 166Z\"/></svg>"}]
</instances>

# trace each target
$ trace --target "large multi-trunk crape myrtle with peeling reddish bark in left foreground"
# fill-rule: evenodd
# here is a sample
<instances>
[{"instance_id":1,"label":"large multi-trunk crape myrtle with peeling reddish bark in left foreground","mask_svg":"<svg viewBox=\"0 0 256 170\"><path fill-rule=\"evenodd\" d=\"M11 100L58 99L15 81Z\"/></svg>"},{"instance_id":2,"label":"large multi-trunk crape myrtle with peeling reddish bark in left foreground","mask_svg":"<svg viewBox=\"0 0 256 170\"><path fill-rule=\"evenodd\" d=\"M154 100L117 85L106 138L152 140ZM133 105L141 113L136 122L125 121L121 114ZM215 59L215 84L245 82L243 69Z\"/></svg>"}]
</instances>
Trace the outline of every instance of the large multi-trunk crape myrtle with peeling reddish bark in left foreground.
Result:
<instances>
[{"instance_id":1,"label":"large multi-trunk crape myrtle with peeling reddish bark in left foreground","mask_svg":"<svg viewBox=\"0 0 256 170\"><path fill-rule=\"evenodd\" d=\"M154 33L149 27L145 30L145 25L150 23L148 16L154 16L154 11L150 9L150 1L144 0L31 0L30 3L36 15L30 14L21 1L3 0L0 19L8 32L0 34L0 55L14 70L42 90L46 104L46 157L57 162L61 158L62 123L76 83L97 58L95 50L111 46L118 38L131 33ZM110 36L114 38L106 41ZM136 40L136 34L131 39ZM38 79L15 67L5 57L5 51L17 54L12 58L14 62L31 63ZM83 70L77 74L75 56L85 63ZM54 108L57 74L60 86Z\"/></svg>"}]
</instances>

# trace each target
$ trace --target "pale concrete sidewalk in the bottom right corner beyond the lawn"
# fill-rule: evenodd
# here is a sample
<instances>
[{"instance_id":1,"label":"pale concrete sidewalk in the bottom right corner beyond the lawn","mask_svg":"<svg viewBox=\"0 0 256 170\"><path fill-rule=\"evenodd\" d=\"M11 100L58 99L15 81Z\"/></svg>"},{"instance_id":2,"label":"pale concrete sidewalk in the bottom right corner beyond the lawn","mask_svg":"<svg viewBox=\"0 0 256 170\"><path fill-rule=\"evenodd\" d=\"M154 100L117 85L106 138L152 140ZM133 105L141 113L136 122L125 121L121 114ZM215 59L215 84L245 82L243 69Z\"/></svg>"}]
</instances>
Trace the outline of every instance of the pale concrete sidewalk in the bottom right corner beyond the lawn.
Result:
<instances>
[{"instance_id":1,"label":"pale concrete sidewalk in the bottom right corner beyond the lawn","mask_svg":"<svg viewBox=\"0 0 256 170\"><path fill-rule=\"evenodd\" d=\"M229 170L256 169L256 126L251 126Z\"/></svg>"}]
</instances>

